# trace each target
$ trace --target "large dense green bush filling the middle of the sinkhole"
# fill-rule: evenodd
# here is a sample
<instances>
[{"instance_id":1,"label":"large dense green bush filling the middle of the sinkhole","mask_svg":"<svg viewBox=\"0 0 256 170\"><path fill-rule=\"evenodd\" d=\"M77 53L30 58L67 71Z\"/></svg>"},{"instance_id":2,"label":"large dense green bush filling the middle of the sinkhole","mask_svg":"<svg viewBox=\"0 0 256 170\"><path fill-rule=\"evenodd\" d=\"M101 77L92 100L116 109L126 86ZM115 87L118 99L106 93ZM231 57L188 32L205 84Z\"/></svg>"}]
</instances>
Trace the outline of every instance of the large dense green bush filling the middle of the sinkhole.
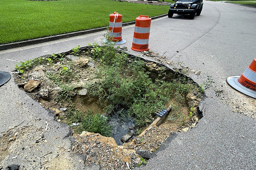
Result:
<instances>
[{"instance_id":1,"label":"large dense green bush filling the middle of the sinkhole","mask_svg":"<svg viewBox=\"0 0 256 170\"><path fill-rule=\"evenodd\" d=\"M155 112L163 109L171 99L174 103L184 100L193 88L183 76L177 76L171 82L165 81L164 69L158 78L152 80L144 61L117 53L114 45L94 44L92 57L103 64L102 75L99 75L103 79L91 86L89 93L109 103L104 109L107 113L113 113L119 106L128 108L125 116L134 117L138 127L152 122Z\"/></svg>"}]
</instances>

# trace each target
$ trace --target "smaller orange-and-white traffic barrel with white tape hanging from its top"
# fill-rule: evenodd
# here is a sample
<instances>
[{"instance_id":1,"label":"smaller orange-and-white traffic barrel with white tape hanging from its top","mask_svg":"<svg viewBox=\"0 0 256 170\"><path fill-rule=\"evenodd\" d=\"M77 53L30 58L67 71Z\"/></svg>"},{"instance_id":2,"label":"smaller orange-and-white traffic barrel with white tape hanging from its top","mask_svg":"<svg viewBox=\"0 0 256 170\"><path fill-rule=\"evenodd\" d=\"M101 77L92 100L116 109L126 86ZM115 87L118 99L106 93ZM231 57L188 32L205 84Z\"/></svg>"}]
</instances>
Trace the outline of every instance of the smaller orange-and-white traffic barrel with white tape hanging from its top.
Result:
<instances>
[{"instance_id":1,"label":"smaller orange-and-white traffic barrel with white tape hanging from its top","mask_svg":"<svg viewBox=\"0 0 256 170\"><path fill-rule=\"evenodd\" d=\"M122 15L118 12L109 14L109 36L116 45L124 44L126 41L122 39ZM104 40L104 42L106 42Z\"/></svg>"}]
</instances>

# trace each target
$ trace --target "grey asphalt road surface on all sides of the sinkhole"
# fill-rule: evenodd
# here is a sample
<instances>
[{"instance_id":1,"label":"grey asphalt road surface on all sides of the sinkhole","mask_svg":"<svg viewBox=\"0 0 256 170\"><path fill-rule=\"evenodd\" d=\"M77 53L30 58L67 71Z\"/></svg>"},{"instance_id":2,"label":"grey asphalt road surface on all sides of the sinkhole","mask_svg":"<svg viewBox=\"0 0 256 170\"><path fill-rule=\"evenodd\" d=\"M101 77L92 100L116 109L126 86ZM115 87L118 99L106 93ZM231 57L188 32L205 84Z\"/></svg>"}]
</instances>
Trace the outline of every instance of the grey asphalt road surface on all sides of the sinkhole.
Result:
<instances>
[{"instance_id":1,"label":"grey asphalt road surface on all sides of the sinkhole","mask_svg":"<svg viewBox=\"0 0 256 170\"><path fill-rule=\"evenodd\" d=\"M149 44L152 51L174 62L181 61L193 70L200 70L200 76L190 75L198 84L206 81L207 75L212 76L215 83L213 88L206 90L200 106L204 117L196 128L168 138L142 169L256 169L256 121L245 116L253 116L256 102L225 83L226 77L241 75L256 57L255 16L256 8L204 1L202 14L194 20L174 14L173 18L163 17L152 21ZM123 46L128 49L131 47L133 30L134 25L123 28L123 39L127 41ZM28 60L68 51L78 45L100 42L102 33L0 51L1 71L14 70L17 61L12 60ZM223 90L221 97L215 96L216 89ZM70 138L64 138L69 128L54 121L48 110L15 85L13 78L0 87L0 96L2 129L25 120L25 124L35 127L28 135L36 138L41 133L37 128L45 128L45 121L50 122L52 131L46 132L47 145L41 144L29 150L26 153L28 157L41 157L50 151L56 154L58 147L63 145L66 150L71 148ZM243 114L236 113L237 106L241 108L239 113ZM21 143L13 143L11 157L17 155L17 151L22 153L21 148L30 144L31 141L26 140L22 146ZM38 152L38 148L42 152ZM78 167L78 160L83 158L69 157L68 151L64 151L63 157L74 169L81 168ZM0 167L11 162L22 162L27 169L37 169L41 164L24 161L24 156L18 155L16 159L6 157L0 162Z\"/></svg>"}]
</instances>

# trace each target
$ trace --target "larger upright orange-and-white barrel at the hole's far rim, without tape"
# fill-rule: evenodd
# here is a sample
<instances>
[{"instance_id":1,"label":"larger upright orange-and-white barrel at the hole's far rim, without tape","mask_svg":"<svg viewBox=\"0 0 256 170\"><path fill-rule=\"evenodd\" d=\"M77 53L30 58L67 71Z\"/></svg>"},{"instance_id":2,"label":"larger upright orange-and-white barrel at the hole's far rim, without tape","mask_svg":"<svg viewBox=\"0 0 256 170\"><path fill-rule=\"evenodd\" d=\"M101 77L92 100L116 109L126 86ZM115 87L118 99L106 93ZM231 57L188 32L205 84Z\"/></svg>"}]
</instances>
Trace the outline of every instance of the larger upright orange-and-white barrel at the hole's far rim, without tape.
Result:
<instances>
[{"instance_id":1,"label":"larger upright orange-and-white barrel at the hole's far rim, without tape","mask_svg":"<svg viewBox=\"0 0 256 170\"><path fill-rule=\"evenodd\" d=\"M147 51L151 18L140 15L136 18L131 49L134 51Z\"/></svg>"}]
</instances>

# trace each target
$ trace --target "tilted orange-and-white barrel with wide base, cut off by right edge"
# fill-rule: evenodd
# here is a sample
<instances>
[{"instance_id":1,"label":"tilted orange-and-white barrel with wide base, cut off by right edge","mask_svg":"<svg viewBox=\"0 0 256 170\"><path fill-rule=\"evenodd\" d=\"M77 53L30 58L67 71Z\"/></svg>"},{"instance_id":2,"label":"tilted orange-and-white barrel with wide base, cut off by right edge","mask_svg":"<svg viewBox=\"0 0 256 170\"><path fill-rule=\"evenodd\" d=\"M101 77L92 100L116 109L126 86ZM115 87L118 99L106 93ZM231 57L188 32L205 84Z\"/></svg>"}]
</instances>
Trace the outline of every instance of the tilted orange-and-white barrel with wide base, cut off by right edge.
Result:
<instances>
[{"instance_id":1,"label":"tilted orange-and-white barrel with wide base, cut off by right edge","mask_svg":"<svg viewBox=\"0 0 256 170\"><path fill-rule=\"evenodd\" d=\"M256 99L256 58L240 77L230 76L226 81L235 90Z\"/></svg>"}]
</instances>

